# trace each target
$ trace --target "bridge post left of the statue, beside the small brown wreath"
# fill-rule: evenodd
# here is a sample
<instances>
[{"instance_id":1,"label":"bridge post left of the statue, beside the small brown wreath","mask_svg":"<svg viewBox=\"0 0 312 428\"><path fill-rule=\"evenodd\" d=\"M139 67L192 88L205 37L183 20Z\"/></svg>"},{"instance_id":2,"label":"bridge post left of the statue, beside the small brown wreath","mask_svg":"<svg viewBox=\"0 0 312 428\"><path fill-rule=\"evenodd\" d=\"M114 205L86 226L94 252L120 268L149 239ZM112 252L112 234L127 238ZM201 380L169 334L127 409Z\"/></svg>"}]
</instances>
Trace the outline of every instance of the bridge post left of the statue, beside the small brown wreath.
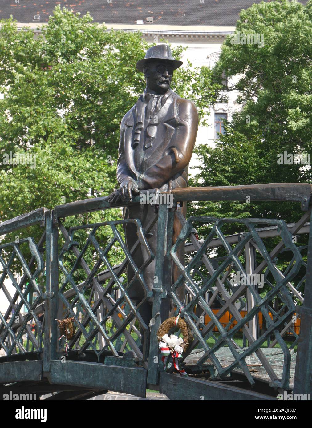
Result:
<instances>
[{"instance_id":1,"label":"bridge post left of the statue, beside the small brown wreath","mask_svg":"<svg viewBox=\"0 0 312 428\"><path fill-rule=\"evenodd\" d=\"M57 312L59 309L59 268L58 237L59 229L53 224L53 210L46 212L46 293L45 300L45 339L43 352L43 371L50 372L51 360L56 360Z\"/></svg>"}]
</instances>

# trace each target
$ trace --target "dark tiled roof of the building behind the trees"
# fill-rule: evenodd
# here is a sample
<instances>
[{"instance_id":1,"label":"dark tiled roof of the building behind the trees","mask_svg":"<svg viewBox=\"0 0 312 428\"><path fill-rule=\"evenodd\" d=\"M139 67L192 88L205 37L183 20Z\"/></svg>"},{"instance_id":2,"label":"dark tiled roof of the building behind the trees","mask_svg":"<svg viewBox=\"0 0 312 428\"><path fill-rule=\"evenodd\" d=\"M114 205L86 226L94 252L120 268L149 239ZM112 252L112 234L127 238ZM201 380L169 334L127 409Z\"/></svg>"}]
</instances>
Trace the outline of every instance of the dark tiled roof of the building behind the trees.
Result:
<instances>
[{"instance_id":1,"label":"dark tiled roof of the building behind the trees","mask_svg":"<svg viewBox=\"0 0 312 428\"><path fill-rule=\"evenodd\" d=\"M34 0L23 0L15 4L0 0L0 19L8 19L13 15L16 21L27 23L33 22L34 15L42 12L40 21L47 22L55 6L60 4L61 7L67 6L82 15L90 12L94 21L106 24L137 24L138 18L145 22L147 17L153 16L157 19L157 24L162 25L235 26L241 9L247 9L260 1L205 0L200 3L195 0L118 0L108 3L110 7L106 8L103 0L80 0L78 4L70 4L70 0L49 0L45 2L45 6L38 6ZM300 3L306 4L307 1L300 0ZM40 9L43 7L45 9Z\"/></svg>"}]
</instances>

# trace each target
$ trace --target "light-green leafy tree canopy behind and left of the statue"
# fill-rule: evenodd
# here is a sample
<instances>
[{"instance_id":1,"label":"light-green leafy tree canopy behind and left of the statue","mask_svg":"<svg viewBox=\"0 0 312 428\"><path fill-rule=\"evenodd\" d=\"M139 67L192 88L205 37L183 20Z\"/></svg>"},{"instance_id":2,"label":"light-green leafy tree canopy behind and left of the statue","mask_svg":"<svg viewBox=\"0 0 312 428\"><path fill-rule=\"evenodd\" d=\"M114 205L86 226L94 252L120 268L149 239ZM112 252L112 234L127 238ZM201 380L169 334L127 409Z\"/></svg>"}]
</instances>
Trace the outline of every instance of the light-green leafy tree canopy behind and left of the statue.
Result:
<instances>
[{"instance_id":1,"label":"light-green leafy tree canopy behind and left of the statue","mask_svg":"<svg viewBox=\"0 0 312 428\"><path fill-rule=\"evenodd\" d=\"M2 221L52 208L61 196L69 202L113 190L116 164L108 162L116 160L122 116L144 89L135 64L148 47L140 33L107 31L59 6L37 38L1 21L0 152L36 154L36 168L1 166ZM201 116L216 88L208 68L175 72L173 89Z\"/></svg>"}]
</instances>

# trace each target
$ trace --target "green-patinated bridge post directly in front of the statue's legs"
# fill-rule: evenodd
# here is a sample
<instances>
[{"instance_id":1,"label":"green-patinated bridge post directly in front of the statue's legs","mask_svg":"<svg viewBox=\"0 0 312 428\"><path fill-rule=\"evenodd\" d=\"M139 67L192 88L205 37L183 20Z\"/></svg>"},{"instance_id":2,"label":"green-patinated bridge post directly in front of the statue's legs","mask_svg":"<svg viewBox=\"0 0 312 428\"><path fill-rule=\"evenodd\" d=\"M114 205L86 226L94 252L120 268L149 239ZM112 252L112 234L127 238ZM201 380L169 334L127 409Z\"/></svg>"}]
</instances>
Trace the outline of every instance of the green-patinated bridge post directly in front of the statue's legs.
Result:
<instances>
[{"instance_id":1,"label":"green-patinated bridge post directly in front of the statue's legs","mask_svg":"<svg viewBox=\"0 0 312 428\"><path fill-rule=\"evenodd\" d=\"M174 209L160 204L158 208L157 251L155 260L155 286L153 288L153 310L150 322L149 369L147 383L156 385L159 375L159 349L157 330L169 317L171 288L171 257Z\"/></svg>"}]
</instances>

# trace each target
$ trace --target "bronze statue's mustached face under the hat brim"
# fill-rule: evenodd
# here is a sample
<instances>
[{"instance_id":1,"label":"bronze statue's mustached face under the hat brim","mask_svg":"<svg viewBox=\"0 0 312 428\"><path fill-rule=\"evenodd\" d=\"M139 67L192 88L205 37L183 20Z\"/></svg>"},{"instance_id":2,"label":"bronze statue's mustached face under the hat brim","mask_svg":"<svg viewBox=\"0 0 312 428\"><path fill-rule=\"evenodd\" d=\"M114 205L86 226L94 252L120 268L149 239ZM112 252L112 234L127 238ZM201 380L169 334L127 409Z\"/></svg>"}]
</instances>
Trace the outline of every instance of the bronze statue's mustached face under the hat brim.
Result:
<instances>
[{"instance_id":1,"label":"bronze statue's mustached face under the hat brim","mask_svg":"<svg viewBox=\"0 0 312 428\"><path fill-rule=\"evenodd\" d=\"M170 88L173 67L167 61L149 62L144 69L146 88L157 94L165 94Z\"/></svg>"}]
</instances>

